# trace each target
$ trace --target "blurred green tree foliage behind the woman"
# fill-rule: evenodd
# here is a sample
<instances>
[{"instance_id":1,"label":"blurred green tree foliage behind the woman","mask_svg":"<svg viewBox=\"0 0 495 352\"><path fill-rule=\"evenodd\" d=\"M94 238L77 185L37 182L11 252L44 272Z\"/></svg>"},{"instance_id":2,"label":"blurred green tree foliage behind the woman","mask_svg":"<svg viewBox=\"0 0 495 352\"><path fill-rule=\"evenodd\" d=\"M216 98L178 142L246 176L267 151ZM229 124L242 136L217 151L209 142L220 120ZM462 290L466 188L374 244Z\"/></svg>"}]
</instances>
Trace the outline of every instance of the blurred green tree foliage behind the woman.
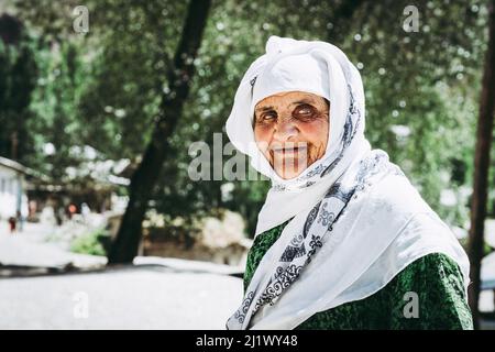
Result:
<instances>
[{"instance_id":1,"label":"blurred green tree foliage behind the woman","mask_svg":"<svg viewBox=\"0 0 495 352\"><path fill-rule=\"evenodd\" d=\"M169 91L166 70L187 3L86 1L90 29L81 35L72 31L74 1L9 2L10 13L31 37L28 42L34 43L31 51L38 67L36 73L23 69L20 78L33 89L22 103L29 107L24 113L31 121L26 140L33 141L25 161L64 177L64 167L74 163L69 153L74 145L91 145L108 158L139 160L158 113L158 92ZM234 182L230 198L224 198L227 180L189 179L188 146L195 141L212 146L212 133L222 132L239 80L275 34L329 41L348 54L363 76L372 146L387 151L443 218L464 226L463 189L472 183L486 1L416 1L420 25L410 33L403 29L409 4L213 1L194 63L191 91L169 139L174 157L165 161L150 205L186 218L230 208L244 216L248 233L253 234L268 182ZM4 48L0 53L0 61L13 63L12 54L6 55ZM12 65L0 69L16 75ZM2 91L7 90L0 89L0 96ZM8 110L6 103L0 108ZM46 143L54 144L55 154L43 153ZM457 201L444 199L446 189Z\"/></svg>"}]
</instances>

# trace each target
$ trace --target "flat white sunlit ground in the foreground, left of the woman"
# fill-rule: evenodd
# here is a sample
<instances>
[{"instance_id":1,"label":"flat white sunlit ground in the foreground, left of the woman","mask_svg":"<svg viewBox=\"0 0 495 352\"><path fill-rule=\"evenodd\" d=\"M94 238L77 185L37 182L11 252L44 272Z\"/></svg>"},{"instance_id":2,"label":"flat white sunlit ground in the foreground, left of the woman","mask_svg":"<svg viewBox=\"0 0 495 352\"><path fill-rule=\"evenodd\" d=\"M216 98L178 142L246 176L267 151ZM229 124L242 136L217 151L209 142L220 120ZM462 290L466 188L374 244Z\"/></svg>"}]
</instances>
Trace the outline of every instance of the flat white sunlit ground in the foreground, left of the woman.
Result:
<instances>
[{"instance_id":1,"label":"flat white sunlit ground in the foreground, left of the woman","mask_svg":"<svg viewBox=\"0 0 495 352\"><path fill-rule=\"evenodd\" d=\"M0 329L224 329L242 280L133 267L0 279Z\"/></svg>"}]
</instances>

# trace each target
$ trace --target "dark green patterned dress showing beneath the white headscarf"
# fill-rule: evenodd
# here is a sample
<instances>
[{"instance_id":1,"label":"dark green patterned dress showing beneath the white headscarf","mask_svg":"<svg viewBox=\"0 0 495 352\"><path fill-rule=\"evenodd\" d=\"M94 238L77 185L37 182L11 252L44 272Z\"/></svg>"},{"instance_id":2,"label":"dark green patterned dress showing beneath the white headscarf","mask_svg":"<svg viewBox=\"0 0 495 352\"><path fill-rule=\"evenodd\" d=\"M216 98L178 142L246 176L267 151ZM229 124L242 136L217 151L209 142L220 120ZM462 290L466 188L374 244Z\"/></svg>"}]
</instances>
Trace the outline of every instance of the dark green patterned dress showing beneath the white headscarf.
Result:
<instances>
[{"instance_id":1,"label":"dark green patterned dress showing beneath the white headscarf","mask_svg":"<svg viewBox=\"0 0 495 352\"><path fill-rule=\"evenodd\" d=\"M244 293L263 255L287 222L254 240L248 254ZM413 298L406 294L410 292L417 294L417 310L408 306ZM297 329L448 330L473 329L473 322L458 264L444 254L433 253L409 264L372 296L317 312Z\"/></svg>"}]
</instances>

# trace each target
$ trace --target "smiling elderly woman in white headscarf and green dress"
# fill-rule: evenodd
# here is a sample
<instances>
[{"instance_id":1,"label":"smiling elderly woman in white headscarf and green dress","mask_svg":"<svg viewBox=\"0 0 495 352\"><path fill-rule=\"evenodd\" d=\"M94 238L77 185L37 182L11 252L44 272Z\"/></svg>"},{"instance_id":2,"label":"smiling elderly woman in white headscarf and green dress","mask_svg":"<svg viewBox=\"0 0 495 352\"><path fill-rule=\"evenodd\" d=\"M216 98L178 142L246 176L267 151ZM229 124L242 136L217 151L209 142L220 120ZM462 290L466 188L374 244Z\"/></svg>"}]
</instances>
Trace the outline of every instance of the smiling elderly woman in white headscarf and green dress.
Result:
<instances>
[{"instance_id":1,"label":"smiling elderly woman in white headscarf and green dress","mask_svg":"<svg viewBox=\"0 0 495 352\"><path fill-rule=\"evenodd\" d=\"M339 48L268 38L226 125L272 180L228 329L472 329L465 252L364 122Z\"/></svg>"}]
</instances>

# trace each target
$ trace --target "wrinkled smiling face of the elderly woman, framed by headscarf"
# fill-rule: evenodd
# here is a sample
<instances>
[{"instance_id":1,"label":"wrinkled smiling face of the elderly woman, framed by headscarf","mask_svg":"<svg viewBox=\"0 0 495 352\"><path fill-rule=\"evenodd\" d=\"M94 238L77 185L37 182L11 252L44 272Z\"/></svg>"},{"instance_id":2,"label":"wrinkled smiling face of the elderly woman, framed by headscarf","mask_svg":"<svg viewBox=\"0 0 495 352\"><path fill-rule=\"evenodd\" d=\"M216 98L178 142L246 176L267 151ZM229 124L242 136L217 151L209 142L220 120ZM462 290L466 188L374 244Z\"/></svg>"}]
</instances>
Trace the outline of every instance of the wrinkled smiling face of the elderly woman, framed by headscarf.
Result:
<instances>
[{"instance_id":1,"label":"wrinkled smiling face of the elderly woman, framed by headscarf","mask_svg":"<svg viewBox=\"0 0 495 352\"><path fill-rule=\"evenodd\" d=\"M254 139L278 176L294 178L324 155L329 110L324 98L304 91L276 94L255 106Z\"/></svg>"}]
</instances>

